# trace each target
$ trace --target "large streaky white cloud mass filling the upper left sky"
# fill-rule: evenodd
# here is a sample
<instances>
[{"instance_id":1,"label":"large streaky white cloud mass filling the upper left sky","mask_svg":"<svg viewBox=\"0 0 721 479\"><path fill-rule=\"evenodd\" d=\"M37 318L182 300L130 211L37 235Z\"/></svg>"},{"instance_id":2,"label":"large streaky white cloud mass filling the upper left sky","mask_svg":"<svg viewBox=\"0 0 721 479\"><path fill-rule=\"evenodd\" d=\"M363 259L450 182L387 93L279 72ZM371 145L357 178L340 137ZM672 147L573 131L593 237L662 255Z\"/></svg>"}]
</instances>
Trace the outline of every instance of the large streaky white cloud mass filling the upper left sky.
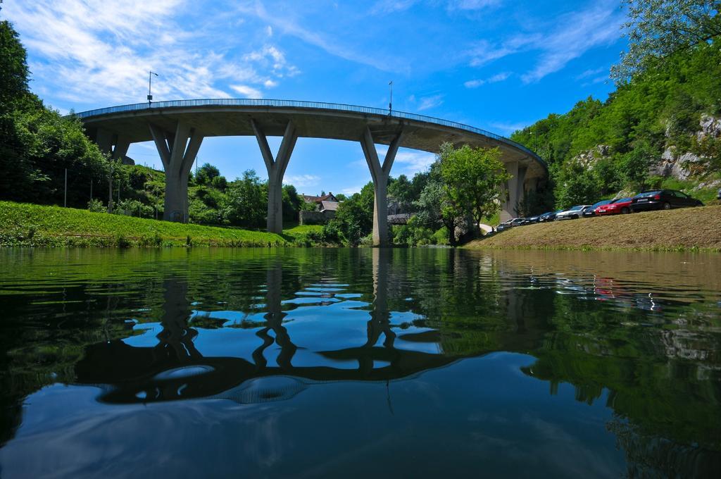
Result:
<instances>
[{"instance_id":1,"label":"large streaky white cloud mass filling the upper left sky","mask_svg":"<svg viewBox=\"0 0 721 479\"><path fill-rule=\"evenodd\" d=\"M177 22L188 8L181 0L46 0L5 4L3 13L30 52L33 76L56 99L141 102L149 70L159 73L156 101L229 97L226 82L275 86L297 74L273 45L265 48L267 58L251 61L222 47L235 32L209 33Z\"/></svg>"}]
</instances>

